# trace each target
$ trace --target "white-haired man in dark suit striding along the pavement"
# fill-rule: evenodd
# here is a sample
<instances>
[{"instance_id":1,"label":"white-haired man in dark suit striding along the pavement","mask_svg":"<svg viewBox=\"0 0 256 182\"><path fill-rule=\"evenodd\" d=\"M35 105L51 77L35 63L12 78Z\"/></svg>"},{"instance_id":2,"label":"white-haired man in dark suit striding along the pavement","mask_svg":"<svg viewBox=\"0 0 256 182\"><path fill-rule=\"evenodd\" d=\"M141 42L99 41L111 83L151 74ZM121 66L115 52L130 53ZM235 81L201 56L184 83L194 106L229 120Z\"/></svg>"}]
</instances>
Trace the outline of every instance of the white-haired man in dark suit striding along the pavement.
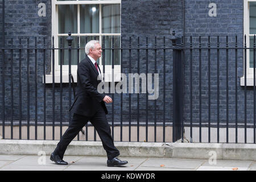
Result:
<instances>
[{"instance_id":1,"label":"white-haired man in dark suit striding along the pavement","mask_svg":"<svg viewBox=\"0 0 256 182\"><path fill-rule=\"evenodd\" d=\"M111 137L109 123L106 119L108 110L107 104L112 103L112 98L105 94L99 93L97 90L98 76L101 77L101 71L96 62L101 57L101 46L97 40L91 40L85 46L86 58L82 60L77 67L77 95L69 111L73 111L72 122L65 131L57 144L55 151L51 154L51 160L59 165L67 165L63 160L64 152L68 144L76 137L82 127L90 121L96 128L101 138L102 145L108 156L108 167L123 166L127 161L116 158L119 151L114 146Z\"/></svg>"}]
</instances>

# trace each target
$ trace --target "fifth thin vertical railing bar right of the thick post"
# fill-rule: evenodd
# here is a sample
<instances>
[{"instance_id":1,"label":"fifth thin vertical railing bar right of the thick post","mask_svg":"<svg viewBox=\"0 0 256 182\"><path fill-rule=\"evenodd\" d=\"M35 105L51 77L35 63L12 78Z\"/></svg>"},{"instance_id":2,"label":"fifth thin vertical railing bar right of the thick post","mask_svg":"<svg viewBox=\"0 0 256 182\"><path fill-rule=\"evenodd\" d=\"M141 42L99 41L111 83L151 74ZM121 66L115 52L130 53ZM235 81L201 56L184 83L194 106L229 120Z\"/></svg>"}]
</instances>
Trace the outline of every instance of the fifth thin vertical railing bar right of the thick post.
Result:
<instances>
[{"instance_id":1,"label":"fifth thin vertical railing bar right of the thick post","mask_svg":"<svg viewBox=\"0 0 256 182\"><path fill-rule=\"evenodd\" d=\"M229 44L226 36L226 143L229 143Z\"/></svg>"}]
</instances>

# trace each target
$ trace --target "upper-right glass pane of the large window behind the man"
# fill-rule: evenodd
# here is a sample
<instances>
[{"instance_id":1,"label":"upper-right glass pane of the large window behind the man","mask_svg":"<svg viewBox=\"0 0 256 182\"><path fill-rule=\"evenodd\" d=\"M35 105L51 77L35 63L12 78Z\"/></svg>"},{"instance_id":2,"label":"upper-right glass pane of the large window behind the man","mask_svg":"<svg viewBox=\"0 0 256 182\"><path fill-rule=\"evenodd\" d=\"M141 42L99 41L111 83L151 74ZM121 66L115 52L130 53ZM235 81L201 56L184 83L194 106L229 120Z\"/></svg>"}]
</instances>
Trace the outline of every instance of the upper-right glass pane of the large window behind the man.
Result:
<instances>
[{"instance_id":1,"label":"upper-right glass pane of the large window behind the man","mask_svg":"<svg viewBox=\"0 0 256 182\"><path fill-rule=\"evenodd\" d=\"M102 5L102 33L120 33L120 5Z\"/></svg>"}]
</instances>

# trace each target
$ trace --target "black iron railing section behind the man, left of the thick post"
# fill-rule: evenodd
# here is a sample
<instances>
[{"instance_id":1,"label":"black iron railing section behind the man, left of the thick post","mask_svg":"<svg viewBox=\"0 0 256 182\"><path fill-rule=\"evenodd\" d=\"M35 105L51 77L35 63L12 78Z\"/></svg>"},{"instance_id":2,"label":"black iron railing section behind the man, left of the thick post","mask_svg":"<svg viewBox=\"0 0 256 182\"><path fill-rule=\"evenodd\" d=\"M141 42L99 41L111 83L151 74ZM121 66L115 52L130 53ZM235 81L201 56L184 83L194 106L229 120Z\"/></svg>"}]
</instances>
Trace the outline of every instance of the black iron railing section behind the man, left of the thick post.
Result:
<instances>
[{"instance_id":1,"label":"black iron railing section behind the man, left of the thick post","mask_svg":"<svg viewBox=\"0 0 256 182\"><path fill-rule=\"evenodd\" d=\"M2 106L1 106L1 124L2 124L2 137L4 139L56 139L56 129L59 130L60 137L63 134L63 127L67 126L72 119L72 113L68 112L69 107L72 104L75 92L76 84L73 82L71 72L72 54L77 54L77 65L80 62L80 53L84 51L84 48L80 48L80 44L72 46L72 36L69 34L66 40L60 38L60 47L56 48L53 44L54 37L52 38L52 46L49 48L46 45L46 38L43 38L43 44L38 46L39 39L27 39L26 46L22 44L22 39L19 39L19 44L16 46L13 40L10 41L10 45L5 48L1 48L3 59L2 61ZM96 39L94 37L94 39ZM159 89L159 96L155 100L149 100L150 94L148 92L141 93L109 93L113 98L112 105L108 105L109 115L108 121L112 126L112 137L119 135L119 141L152 141L152 142L165 142L166 141L166 126L171 126L171 102L169 101L172 92L172 85L167 85L166 77L170 80L171 72L167 73L166 67L170 67L170 59L172 51L171 47L166 46L166 39L162 38L163 46L159 46L154 41L154 46L148 46L148 38L146 40L146 46L141 46L141 40L138 38L136 41L137 46L132 46L131 37L127 40L123 40L121 37L121 44L118 48L114 45L114 37L112 37L112 46L110 48L105 47L105 36L102 37L102 66L103 74L105 70L105 57L106 51L111 52L112 55L112 72L114 72L114 51L120 51L120 65L121 73L129 77L129 73L144 73L146 76L148 73L159 74L160 89L156 88L158 85L153 85L152 88ZM41 40L42 41L42 40ZM63 47L63 42L68 41L68 48ZM34 42L34 46L31 45ZM40 42L40 41L39 41ZM77 38L79 42L79 37ZM86 39L87 42L87 39ZM125 46L124 43L125 42ZM60 71L57 75L60 80L56 81L55 71L55 54L59 51L59 68ZM63 82L63 59L64 52L68 51L68 82ZM168 53L168 61L167 53ZM137 54L137 55L136 55ZM50 56L51 55L51 56ZM151 56L154 56L152 59ZM7 58L6 58L7 57ZM5 61L3 61L5 60ZM135 60L135 62L134 62ZM163 62L162 62L163 60ZM159 64L160 63L160 64ZM159 66L160 65L160 66ZM149 68L150 67L150 68ZM151 69L154 67L154 69ZM18 72L14 71L18 69ZM51 72L50 72L51 69ZM170 70L170 68L168 68ZM52 80L50 84L46 84L46 76L51 73ZM18 78L18 80L17 80ZM113 79L113 77L112 77ZM152 80L154 80L153 78ZM11 81L9 81L11 80ZM15 81L14 81L15 80ZM146 88L148 87L148 78L146 77ZM139 84L145 80L139 79ZM25 89L26 88L26 89ZM136 88L133 89L133 91ZM9 93L10 92L10 96ZM168 98L168 100L166 100ZM135 100L135 101L134 101ZM160 102L159 102L160 101ZM160 105L158 104L160 103ZM26 113L24 113L26 112ZM167 118L168 117L168 118ZM10 137L6 137L9 134L6 133L7 127L10 126ZM18 127L18 138L14 137L14 126ZM26 127L24 131L23 126ZM85 140L88 139L88 127L85 126ZM119 127L119 131L115 131L115 126ZM128 126L127 139L123 139L125 136L123 127ZM38 127L43 129L38 130ZM52 127L51 134L47 134L47 127ZM154 139L153 133L149 133L149 127L154 127ZM133 128L137 132L132 131ZM144 133L142 134L142 128ZM31 137L31 129L34 130L34 134ZM171 133L171 128L168 128L168 133ZM16 129L15 129L16 131ZM125 133L126 133L125 131ZM24 137L24 132L27 135ZM152 132L152 131L150 131ZM38 137L42 135L43 137ZM157 139L157 135L162 135L161 139ZM137 135L135 137L135 135ZM142 136L143 135L143 136ZM134 139L136 138L136 139ZM80 140L79 135L77 139ZM96 130L93 131L93 140L96 138ZM172 138L168 136L167 141L171 141Z\"/></svg>"}]
</instances>

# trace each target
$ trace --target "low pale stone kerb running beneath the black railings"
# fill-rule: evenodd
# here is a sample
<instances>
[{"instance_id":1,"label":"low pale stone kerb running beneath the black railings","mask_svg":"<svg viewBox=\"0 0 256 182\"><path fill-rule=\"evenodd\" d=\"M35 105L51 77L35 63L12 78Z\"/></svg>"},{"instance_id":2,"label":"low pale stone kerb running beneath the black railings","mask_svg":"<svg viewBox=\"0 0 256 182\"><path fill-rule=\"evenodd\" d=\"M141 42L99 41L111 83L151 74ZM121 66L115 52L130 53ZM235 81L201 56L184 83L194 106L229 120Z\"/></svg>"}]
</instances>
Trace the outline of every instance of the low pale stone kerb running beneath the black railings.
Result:
<instances>
[{"instance_id":1,"label":"low pale stone kerb running beneath the black railings","mask_svg":"<svg viewBox=\"0 0 256 182\"><path fill-rule=\"evenodd\" d=\"M0 155L51 155L57 140L0 140ZM256 161L253 143L114 142L122 157ZM106 156L102 142L72 141L65 155Z\"/></svg>"}]
</instances>

